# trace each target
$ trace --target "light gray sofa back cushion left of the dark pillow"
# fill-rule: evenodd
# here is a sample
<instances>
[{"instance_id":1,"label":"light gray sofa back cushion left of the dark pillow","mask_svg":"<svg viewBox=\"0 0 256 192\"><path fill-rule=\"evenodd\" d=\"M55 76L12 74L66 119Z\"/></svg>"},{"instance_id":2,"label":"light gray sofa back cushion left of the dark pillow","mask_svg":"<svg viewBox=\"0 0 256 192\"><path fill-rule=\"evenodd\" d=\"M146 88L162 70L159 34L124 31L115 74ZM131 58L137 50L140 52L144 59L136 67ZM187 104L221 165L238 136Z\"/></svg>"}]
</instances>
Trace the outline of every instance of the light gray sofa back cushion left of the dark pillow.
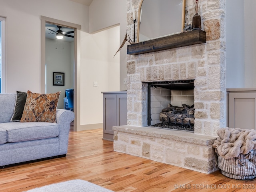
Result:
<instances>
[{"instance_id":1,"label":"light gray sofa back cushion left of the dark pillow","mask_svg":"<svg viewBox=\"0 0 256 192\"><path fill-rule=\"evenodd\" d=\"M10 122L17 94L0 94L0 123Z\"/></svg>"}]
</instances>

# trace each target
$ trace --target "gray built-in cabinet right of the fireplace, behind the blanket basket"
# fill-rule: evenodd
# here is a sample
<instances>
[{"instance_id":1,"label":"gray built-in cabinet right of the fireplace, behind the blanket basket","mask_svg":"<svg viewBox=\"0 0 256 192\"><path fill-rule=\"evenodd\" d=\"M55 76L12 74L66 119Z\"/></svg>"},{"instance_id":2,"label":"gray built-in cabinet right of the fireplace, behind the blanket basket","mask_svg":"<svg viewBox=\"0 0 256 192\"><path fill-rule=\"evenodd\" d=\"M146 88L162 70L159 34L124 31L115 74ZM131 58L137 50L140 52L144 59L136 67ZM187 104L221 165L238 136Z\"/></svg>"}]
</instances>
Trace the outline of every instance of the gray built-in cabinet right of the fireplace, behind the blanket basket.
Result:
<instances>
[{"instance_id":1,"label":"gray built-in cabinet right of the fireplace, behind the blanket basket","mask_svg":"<svg viewBox=\"0 0 256 192\"><path fill-rule=\"evenodd\" d=\"M256 89L227 89L228 127L256 130Z\"/></svg>"}]
</instances>

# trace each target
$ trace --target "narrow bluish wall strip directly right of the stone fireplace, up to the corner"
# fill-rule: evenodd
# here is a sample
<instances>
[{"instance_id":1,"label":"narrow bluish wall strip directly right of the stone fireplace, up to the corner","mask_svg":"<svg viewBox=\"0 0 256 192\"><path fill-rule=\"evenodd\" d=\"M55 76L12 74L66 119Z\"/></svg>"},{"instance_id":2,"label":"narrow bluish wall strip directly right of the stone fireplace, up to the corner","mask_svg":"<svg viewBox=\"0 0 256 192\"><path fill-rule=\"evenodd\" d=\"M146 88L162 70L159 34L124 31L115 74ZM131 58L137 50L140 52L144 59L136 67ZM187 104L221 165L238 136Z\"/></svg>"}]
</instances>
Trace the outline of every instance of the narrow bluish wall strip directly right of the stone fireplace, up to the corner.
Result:
<instances>
[{"instance_id":1,"label":"narrow bluish wall strip directly right of the stone fireplace, up to the corner","mask_svg":"<svg viewBox=\"0 0 256 192\"><path fill-rule=\"evenodd\" d=\"M244 88L244 2L226 0L227 88Z\"/></svg>"}]
</instances>

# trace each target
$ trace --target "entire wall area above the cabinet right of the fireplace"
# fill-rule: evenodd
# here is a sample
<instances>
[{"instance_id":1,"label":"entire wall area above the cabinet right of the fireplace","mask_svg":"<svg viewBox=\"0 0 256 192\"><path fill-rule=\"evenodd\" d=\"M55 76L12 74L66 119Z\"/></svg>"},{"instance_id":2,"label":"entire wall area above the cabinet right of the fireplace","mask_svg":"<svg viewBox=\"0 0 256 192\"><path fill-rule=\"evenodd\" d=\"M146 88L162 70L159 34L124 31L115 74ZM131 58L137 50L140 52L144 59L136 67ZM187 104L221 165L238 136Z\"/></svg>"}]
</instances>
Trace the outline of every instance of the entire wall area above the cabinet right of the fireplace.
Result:
<instances>
[{"instance_id":1,"label":"entire wall area above the cabinet right of the fireplace","mask_svg":"<svg viewBox=\"0 0 256 192\"><path fill-rule=\"evenodd\" d=\"M256 87L256 1L226 1L226 87Z\"/></svg>"}]
</instances>

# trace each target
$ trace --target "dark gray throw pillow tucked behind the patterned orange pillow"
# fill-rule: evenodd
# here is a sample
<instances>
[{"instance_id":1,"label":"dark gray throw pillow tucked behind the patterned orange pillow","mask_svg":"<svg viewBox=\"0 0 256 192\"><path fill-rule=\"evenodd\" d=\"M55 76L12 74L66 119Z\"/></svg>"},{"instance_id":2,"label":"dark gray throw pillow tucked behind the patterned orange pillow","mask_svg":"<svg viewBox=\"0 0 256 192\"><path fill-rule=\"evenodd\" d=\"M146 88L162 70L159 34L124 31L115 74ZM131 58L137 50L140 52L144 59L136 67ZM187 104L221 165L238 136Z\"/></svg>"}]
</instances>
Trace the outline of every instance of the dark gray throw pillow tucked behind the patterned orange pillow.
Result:
<instances>
[{"instance_id":1,"label":"dark gray throw pillow tucked behind the patterned orange pillow","mask_svg":"<svg viewBox=\"0 0 256 192\"><path fill-rule=\"evenodd\" d=\"M14 107L14 112L11 118L11 122L19 121L22 117L24 106L26 103L27 93L22 91L16 91L16 103Z\"/></svg>"}]
</instances>

